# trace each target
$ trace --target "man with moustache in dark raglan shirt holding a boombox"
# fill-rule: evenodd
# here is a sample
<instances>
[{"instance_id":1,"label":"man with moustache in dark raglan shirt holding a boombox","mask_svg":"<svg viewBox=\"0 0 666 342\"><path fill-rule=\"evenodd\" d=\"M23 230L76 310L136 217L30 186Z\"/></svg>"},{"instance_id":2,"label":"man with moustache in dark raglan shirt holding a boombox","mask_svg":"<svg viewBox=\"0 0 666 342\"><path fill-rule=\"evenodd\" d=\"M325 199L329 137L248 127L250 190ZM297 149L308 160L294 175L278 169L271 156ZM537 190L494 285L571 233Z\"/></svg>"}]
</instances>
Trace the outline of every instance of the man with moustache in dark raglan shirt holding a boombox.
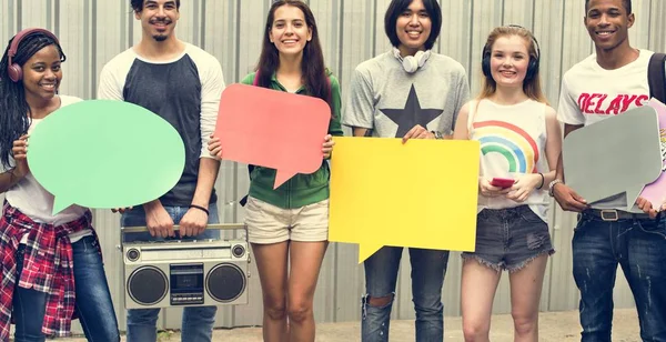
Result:
<instances>
[{"instance_id":1,"label":"man with moustache in dark raglan shirt holding a boombox","mask_svg":"<svg viewBox=\"0 0 666 342\"><path fill-rule=\"evenodd\" d=\"M180 239L216 238L219 232L205 227L219 221L213 185L220 162L210 155L208 140L224 89L220 62L175 37L180 0L131 0L131 6L141 21L141 41L104 66L98 98L128 101L169 121L185 144L185 168L167 194L123 213L123 227L147 225L150 232L127 234L125 241L178 237L174 224L180 224ZM182 340L211 341L215 312L215 306L185 308ZM155 341L159 313L129 310L128 341Z\"/></svg>"}]
</instances>

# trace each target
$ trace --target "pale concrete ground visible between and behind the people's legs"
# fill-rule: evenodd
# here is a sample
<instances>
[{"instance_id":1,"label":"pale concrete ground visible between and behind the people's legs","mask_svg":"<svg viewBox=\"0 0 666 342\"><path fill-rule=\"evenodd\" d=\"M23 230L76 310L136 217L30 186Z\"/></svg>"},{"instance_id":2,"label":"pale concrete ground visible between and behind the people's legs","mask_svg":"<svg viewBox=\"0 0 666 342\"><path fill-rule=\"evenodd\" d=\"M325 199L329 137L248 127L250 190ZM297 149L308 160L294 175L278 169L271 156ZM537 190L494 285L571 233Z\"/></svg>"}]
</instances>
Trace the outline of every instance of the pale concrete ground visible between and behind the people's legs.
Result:
<instances>
[{"instance_id":1,"label":"pale concrete ground visible between and behind the people's legs","mask_svg":"<svg viewBox=\"0 0 666 342\"><path fill-rule=\"evenodd\" d=\"M463 341L461 318L445 318L445 341ZM539 341L566 342L581 340L578 312L548 312L539 315ZM613 320L613 341L638 342L638 318L634 309L615 310ZM316 326L316 341L360 341L361 328L359 322L322 323ZM493 342L513 341L513 323L511 315L494 315L491 326ZM83 342L85 339L62 339L60 341ZM122 339L124 340L124 336ZM160 341L180 341L179 332L161 332ZM261 328L236 328L215 330L213 341L254 342L262 341ZM414 341L413 321L392 321L391 341Z\"/></svg>"}]
</instances>

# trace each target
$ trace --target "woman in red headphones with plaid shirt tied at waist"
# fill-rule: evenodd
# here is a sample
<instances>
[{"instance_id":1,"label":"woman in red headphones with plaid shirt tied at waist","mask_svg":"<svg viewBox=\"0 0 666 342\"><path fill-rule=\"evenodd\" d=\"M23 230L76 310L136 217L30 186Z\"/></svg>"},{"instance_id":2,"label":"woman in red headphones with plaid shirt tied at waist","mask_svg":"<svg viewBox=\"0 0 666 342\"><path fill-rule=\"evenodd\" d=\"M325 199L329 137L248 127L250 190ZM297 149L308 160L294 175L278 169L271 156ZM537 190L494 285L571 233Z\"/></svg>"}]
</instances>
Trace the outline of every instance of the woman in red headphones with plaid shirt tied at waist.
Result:
<instances>
[{"instance_id":1,"label":"woman in red headphones with plaid shirt tied at waist","mask_svg":"<svg viewBox=\"0 0 666 342\"><path fill-rule=\"evenodd\" d=\"M64 60L43 29L20 31L0 60L0 341L9 341L10 322L16 342L65 336L75 316L89 341L120 341L90 210L72 204L52 214L53 194L27 161L34 127L81 101L58 93Z\"/></svg>"}]
</instances>

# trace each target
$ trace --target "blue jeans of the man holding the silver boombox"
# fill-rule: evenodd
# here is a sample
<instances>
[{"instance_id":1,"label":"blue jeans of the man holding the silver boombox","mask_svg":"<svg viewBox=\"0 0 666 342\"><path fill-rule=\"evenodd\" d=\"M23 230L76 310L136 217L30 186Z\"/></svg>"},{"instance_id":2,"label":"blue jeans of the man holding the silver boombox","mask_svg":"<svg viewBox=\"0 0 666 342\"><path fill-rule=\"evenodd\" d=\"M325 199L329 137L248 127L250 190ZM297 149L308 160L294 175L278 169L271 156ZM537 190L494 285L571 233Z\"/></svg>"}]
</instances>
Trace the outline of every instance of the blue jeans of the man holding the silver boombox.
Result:
<instances>
[{"instance_id":1,"label":"blue jeans of the man holding the silver boombox","mask_svg":"<svg viewBox=\"0 0 666 342\"><path fill-rule=\"evenodd\" d=\"M189 208L186 207L164 207L173 222L178 224L185 215ZM219 223L218 207L211 203L209 207L208 223ZM145 225L145 211L143 208L134 208L122 214L120 219L122 227ZM219 230L205 230L198 237L185 237L181 240L201 240L201 239L219 239ZM175 238L168 239L179 239ZM162 240L162 238L153 238L148 232L127 233L124 241L150 241ZM182 341L186 342L210 342L213 335L213 324L215 323L215 313L218 306L188 306L183 309L182 320ZM131 309L128 310L128 342L150 342L157 341L158 331L157 322L160 309Z\"/></svg>"}]
</instances>

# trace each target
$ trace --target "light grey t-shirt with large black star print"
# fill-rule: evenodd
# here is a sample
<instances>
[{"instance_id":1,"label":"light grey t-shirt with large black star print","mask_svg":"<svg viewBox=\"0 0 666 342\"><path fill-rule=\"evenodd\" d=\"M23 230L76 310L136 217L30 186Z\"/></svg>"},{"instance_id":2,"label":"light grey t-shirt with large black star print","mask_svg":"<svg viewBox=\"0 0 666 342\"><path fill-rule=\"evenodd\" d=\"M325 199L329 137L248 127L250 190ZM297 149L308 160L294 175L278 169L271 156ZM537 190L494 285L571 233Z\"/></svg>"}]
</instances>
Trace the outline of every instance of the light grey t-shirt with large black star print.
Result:
<instances>
[{"instance_id":1,"label":"light grey t-shirt with large black star print","mask_svg":"<svg viewBox=\"0 0 666 342\"><path fill-rule=\"evenodd\" d=\"M359 64L350 87L343 124L381 138L402 138L416 124L451 134L470 97L463 66L437 53L415 73L404 71L392 52L383 53Z\"/></svg>"}]
</instances>

